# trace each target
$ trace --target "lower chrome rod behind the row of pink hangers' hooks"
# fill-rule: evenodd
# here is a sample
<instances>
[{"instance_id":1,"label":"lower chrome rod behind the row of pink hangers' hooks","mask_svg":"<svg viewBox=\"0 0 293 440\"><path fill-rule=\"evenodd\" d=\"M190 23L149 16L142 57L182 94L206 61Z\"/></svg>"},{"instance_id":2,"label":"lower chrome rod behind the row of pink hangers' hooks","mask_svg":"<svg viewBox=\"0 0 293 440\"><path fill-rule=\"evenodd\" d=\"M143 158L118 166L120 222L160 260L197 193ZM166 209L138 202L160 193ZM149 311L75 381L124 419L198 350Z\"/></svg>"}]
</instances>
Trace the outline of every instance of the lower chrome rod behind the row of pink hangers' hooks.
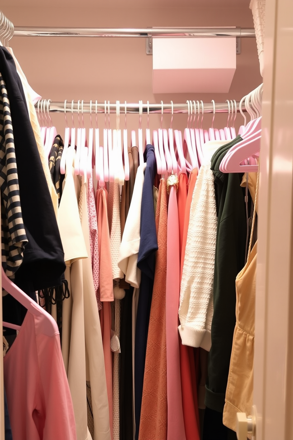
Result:
<instances>
[{"instance_id":1,"label":"lower chrome rod behind the row of pink hangers' hooks","mask_svg":"<svg viewBox=\"0 0 293 440\"><path fill-rule=\"evenodd\" d=\"M230 100L229 104L225 103L203 103L200 101L189 101L189 111L194 113L235 113L235 101ZM96 103L92 101L91 106L89 102L78 101L66 101L57 102L50 99L42 99L35 104L35 108L40 112L53 112L53 113L116 113L118 107L116 103ZM239 102L236 102L236 109L239 112ZM188 104L142 104L142 113L188 113ZM139 113L139 103L119 103L119 113ZM242 111L246 111L245 108Z\"/></svg>"}]
</instances>

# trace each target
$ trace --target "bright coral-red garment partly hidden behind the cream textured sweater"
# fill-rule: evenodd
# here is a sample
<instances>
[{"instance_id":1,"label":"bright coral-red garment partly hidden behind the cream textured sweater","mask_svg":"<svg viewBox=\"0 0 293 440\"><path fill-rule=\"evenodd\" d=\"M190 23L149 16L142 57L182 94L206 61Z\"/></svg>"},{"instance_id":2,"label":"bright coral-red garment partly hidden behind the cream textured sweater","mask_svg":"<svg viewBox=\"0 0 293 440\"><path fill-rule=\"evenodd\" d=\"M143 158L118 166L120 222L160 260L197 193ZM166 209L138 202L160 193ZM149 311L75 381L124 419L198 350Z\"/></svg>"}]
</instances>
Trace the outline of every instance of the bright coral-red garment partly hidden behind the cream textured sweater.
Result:
<instances>
[{"instance_id":1,"label":"bright coral-red garment partly hidden behind the cream textured sweater","mask_svg":"<svg viewBox=\"0 0 293 440\"><path fill-rule=\"evenodd\" d=\"M193 174L192 174L193 173ZM192 192L194 189L197 170L192 170L192 184L189 185L188 194L191 203ZM177 191L178 217L179 217L179 243L180 256L182 258L182 246L184 241L184 251L186 236L184 237L184 221L185 217L189 220L190 204L187 205L187 175L180 173ZM189 190L191 192L189 192ZM188 200L188 201L189 201ZM184 240L185 239L185 240ZM181 281L182 272L180 272ZM178 323L179 325L179 323ZM180 372L181 372L181 391L182 391L182 408L186 440L199 440L199 417L197 407L197 387L195 377L195 362L193 356L193 347L182 345L181 337L179 337L180 351Z\"/></svg>"}]
</instances>

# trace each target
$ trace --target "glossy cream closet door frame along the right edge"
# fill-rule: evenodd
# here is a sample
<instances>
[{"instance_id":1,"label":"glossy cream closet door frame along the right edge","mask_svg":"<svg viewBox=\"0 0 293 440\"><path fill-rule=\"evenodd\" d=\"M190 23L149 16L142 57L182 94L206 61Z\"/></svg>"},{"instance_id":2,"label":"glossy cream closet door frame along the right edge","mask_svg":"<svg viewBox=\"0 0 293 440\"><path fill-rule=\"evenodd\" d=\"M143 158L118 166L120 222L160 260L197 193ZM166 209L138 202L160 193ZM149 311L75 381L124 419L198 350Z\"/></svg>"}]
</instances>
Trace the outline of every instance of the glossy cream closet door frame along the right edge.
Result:
<instances>
[{"instance_id":1,"label":"glossy cream closet door frame along the right edge","mask_svg":"<svg viewBox=\"0 0 293 440\"><path fill-rule=\"evenodd\" d=\"M253 403L257 440L293 439L293 2L267 0Z\"/></svg>"}]
</instances>

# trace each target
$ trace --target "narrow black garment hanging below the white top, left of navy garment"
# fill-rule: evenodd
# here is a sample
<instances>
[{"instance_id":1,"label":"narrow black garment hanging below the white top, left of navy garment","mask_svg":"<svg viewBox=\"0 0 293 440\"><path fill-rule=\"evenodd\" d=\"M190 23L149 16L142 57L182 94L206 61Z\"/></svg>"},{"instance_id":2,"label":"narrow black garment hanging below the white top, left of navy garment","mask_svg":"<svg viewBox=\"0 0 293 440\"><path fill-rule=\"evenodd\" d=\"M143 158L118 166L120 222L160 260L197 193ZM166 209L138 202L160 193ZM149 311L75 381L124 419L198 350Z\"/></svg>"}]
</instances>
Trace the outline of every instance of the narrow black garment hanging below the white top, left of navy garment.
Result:
<instances>
[{"instance_id":1,"label":"narrow black garment hanging below the white top, left of navy garment","mask_svg":"<svg viewBox=\"0 0 293 440\"><path fill-rule=\"evenodd\" d=\"M132 409L132 295L134 288L125 290L121 300L120 321L120 440L133 439Z\"/></svg>"}]
</instances>

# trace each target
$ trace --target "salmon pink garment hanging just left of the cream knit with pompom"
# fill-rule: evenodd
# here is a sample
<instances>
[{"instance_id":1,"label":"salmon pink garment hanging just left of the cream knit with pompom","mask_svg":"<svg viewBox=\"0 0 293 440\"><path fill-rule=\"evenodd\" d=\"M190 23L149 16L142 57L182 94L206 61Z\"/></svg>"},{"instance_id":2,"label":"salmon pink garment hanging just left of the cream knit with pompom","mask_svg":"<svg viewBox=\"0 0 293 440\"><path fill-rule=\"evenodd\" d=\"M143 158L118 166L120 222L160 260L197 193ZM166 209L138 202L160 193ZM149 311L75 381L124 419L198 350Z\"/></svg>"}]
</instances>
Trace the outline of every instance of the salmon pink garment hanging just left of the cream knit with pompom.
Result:
<instances>
[{"instance_id":1,"label":"salmon pink garment hanging just left of the cream knit with pompom","mask_svg":"<svg viewBox=\"0 0 293 440\"><path fill-rule=\"evenodd\" d=\"M103 308L100 311L100 323L105 358L110 431L111 438L113 438L112 352L110 346L112 311L110 301L114 300L114 294L106 193L107 191L105 191L104 188L99 188L96 194L96 203L98 218L98 253L100 256L99 291L101 301L103 302Z\"/></svg>"}]
</instances>

